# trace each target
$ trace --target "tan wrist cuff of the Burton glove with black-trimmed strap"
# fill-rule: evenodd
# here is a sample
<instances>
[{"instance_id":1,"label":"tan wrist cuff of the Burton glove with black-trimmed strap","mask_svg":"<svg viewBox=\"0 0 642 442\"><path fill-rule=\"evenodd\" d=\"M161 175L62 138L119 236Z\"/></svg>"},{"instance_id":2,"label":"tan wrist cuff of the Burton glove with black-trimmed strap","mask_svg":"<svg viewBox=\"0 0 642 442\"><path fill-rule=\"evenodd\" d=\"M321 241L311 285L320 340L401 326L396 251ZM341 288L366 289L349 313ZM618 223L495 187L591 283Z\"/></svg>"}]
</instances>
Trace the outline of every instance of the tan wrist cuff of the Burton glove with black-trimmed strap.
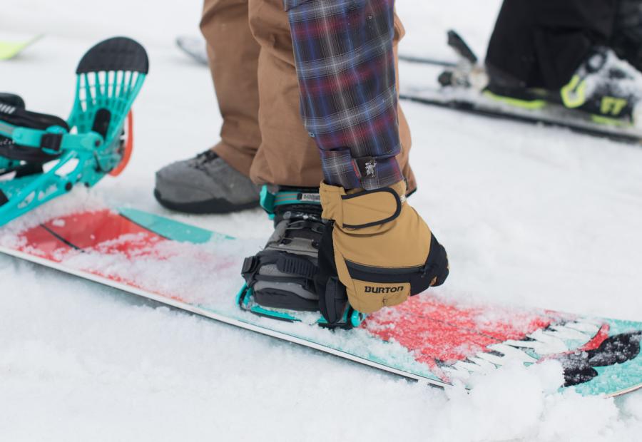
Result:
<instances>
[{"instance_id":1,"label":"tan wrist cuff of the Burton glove with black-trimmed strap","mask_svg":"<svg viewBox=\"0 0 642 442\"><path fill-rule=\"evenodd\" d=\"M406 201L406 183L399 181L376 190L347 193L343 187L321 183L322 217L335 220L342 229L365 229L397 218Z\"/></svg>"}]
</instances>

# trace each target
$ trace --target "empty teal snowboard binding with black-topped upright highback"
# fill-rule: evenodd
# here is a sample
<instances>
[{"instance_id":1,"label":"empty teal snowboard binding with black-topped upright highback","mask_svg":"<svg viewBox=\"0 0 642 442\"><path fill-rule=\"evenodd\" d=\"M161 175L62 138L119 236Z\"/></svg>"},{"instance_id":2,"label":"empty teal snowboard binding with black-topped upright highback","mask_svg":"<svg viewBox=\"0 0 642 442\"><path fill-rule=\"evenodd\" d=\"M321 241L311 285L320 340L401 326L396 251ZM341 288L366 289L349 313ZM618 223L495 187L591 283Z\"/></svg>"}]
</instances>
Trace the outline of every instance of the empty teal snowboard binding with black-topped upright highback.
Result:
<instances>
[{"instance_id":1,"label":"empty teal snowboard binding with black-topped upright highback","mask_svg":"<svg viewBox=\"0 0 642 442\"><path fill-rule=\"evenodd\" d=\"M68 120L26 111L0 93L0 225L69 192L118 175L133 148L131 106L148 73L145 49L126 37L93 46L76 69Z\"/></svg>"}]
</instances>

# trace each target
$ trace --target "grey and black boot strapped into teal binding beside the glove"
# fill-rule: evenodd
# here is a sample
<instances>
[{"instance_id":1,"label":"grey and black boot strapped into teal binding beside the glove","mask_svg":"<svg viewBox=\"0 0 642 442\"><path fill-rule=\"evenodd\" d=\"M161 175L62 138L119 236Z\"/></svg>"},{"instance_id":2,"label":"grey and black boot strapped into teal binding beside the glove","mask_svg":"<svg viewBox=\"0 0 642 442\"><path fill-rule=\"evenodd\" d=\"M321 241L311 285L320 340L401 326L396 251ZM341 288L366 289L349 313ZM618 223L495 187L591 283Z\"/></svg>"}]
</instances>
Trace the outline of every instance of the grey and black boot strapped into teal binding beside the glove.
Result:
<instances>
[{"instance_id":1,"label":"grey and black boot strapped into teal binding beside the glove","mask_svg":"<svg viewBox=\"0 0 642 442\"><path fill-rule=\"evenodd\" d=\"M261 190L261 205L274 220L275 231L265 249L243 263L245 285L237 295L241 309L284 321L305 320L314 312L322 327L358 327L364 316L346 301L342 319L328 324L319 318L314 278L324 222L318 188L280 187ZM308 313L310 314L310 313Z\"/></svg>"}]
</instances>

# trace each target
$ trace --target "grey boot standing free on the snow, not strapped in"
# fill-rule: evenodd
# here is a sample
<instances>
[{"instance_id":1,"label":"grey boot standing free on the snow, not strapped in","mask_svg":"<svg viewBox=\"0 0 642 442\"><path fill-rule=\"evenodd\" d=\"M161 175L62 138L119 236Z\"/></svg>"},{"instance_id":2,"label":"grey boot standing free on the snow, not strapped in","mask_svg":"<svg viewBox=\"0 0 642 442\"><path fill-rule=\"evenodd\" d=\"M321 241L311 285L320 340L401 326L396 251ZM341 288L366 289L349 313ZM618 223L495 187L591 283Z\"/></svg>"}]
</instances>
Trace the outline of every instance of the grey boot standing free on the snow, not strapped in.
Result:
<instances>
[{"instance_id":1,"label":"grey boot standing free on the snow, not strapped in","mask_svg":"<svg viewBox=\"0 0 642 442\"><path fill-rule=\"evenodd\" d=\"M257 207L258 187L212 150L156 172L156 200L186 213L230 213Z\"/></svg>"}]
</instances>

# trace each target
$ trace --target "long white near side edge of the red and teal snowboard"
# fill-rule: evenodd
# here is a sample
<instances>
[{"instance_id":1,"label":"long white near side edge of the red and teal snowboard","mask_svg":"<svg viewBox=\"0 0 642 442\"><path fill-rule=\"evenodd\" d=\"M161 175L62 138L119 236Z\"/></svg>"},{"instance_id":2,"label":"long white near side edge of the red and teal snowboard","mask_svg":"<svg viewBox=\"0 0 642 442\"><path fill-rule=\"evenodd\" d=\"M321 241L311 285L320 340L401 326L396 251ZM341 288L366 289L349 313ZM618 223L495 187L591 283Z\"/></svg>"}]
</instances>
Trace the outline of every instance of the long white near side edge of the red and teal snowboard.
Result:
<instances>
[{"instance_id":1,"label":"long white near side edge of the red and teal snowboard","mask_svg":"<svg viewBox=\"0 0 642 442\"><path fill-rule=\"evenodd\" d=\"M213 319L218 322L223 322L224 324L229 324L233 325L235 327L240 327L242 329L250 330L251 332L263 334L266 336L272 336L277 339L281 339L283 341L287 342L292 342L292 344L298 344L300 346L305 346L310 349L315 349L317 351L323 351L324 353L327 354L332 354L334 356L340 357L342 359L348 359L353 362L357 362L358 364L362 365L367 365L371 366L375 369L379 369L382 371L387 371L388 373L396 374L397 376L404 377L406 379L411 379L412 381L417 381L419 384L428 384L429 386L436 386L439 388L444 388L447 386L452 386L452 384L449 384L444 381L437 381L437 379L430 379L425 376L420 376L418 374L413 374L408 371L403 371L399 369L395 369L394 367L387 366L384 364L379 364L378 362L371 361L370 359L365 359L362 358L361 356L355 356L353 354L347 353L345 351L340 351L337 349L332 349L329 346L325 346L322 344L317 344L314 341L309 341L304 338L300 338L298 336L293 336L290 334L282 333L282 332L276 332L275 330L271 329L266 329L264 327L259 327L254 324L250 324L249 322L244 322L239 319L233 319L230 317L226 317L223 314L218 314L215 312L211 312L208 309L204 309L202 307L194 306L191 304L187 304L184 302L177 301L175 299L171 299L168 297L163 297L160 294L155 294L152 292L146 292L143 289L138 289L136 287L131 287L128 284L123 284L121 282L115 282L112 281L111 279L108 279L106 277L101 277L96 274L91 274L88 272L84 272L82 270L78 269L72 269L70 267L66 267L63 264L60 264L58 262L53 262L49 259L44 259L41 257L37 257L35 255L29 255L29 253L25 252L20 252L18 250L12 250L6 247L1 247L0 246L0 253L3 253L4 255L9 255L11 257L19 258L19 259L24 259L25 261L33 262L34 264L39 264L44 267L48 267L50 269L58 270L59 272L63 272L66 274L72 274L73 276L76 277L81 277L83 279L87 279L88 281L91 282L97 282L98 284L103 284L107 287L112 287L114 289L121 290L121 292L126 292L129 294L136 294L139 297L143 297L146 299L152 299L153 301L159 302L161 304L168 305L170 307L175 307L177 309L187 311L193 314L198 314L201 317L206 317L208 319Z\"/></svg>"}]
</instances>

